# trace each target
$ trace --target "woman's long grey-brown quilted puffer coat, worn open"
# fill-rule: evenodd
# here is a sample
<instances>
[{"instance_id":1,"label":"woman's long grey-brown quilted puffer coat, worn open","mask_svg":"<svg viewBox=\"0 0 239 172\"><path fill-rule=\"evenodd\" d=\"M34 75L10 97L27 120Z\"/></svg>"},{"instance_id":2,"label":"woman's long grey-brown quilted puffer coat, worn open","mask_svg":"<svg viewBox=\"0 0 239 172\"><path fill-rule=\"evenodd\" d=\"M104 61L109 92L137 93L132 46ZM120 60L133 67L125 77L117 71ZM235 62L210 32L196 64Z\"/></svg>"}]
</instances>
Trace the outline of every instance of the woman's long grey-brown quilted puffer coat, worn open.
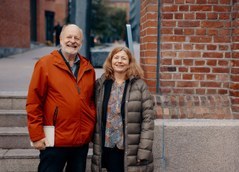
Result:
<instances>
[{"instance_id":1,"label":"woman's long grey-brown quilted puffer coat, worn open","mask_svg":"<svg viewBox=\"0 0 239 172\"><path fill-rule=\"evenodd\" d=\"M93 138L91 169L101 172L102 102L105 76L96 81L97 123ZM142 79L130 78L125 95L124 172L153 172L154 101ZM141 163L137 163L140 160Z\"/></svg>"}]
</instances>

